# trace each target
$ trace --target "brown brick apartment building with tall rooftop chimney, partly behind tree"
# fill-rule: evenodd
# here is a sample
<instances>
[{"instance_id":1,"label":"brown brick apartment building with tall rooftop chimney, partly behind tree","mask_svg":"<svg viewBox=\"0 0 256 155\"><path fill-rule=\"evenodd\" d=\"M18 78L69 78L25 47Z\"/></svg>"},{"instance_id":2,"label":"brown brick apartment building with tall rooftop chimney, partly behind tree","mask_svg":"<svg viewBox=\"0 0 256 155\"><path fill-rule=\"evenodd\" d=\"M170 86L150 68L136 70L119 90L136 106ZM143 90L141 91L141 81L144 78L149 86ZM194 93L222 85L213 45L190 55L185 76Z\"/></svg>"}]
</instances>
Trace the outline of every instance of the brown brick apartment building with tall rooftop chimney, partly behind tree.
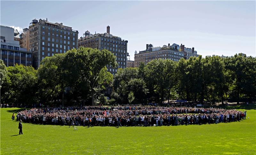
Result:
<instances>
[{"instance_id":1,"label":"brown brick apartment building with tall rooftop chimney, partly behind tree","mask_svg":"<svg viewBox=\"0 0 256 155\"><path fill-rule=\"evenodd\" d=\"M107 66L108 72L115 74L118 68L125 68L127 65L127 40L110 34L110 27L107 26L107 33L90 34L87 30L84 36L78 39L78 46L97 48L99 50L107 49L116 56L118 66L116 68Z\"/></svg>"}]
</instances>

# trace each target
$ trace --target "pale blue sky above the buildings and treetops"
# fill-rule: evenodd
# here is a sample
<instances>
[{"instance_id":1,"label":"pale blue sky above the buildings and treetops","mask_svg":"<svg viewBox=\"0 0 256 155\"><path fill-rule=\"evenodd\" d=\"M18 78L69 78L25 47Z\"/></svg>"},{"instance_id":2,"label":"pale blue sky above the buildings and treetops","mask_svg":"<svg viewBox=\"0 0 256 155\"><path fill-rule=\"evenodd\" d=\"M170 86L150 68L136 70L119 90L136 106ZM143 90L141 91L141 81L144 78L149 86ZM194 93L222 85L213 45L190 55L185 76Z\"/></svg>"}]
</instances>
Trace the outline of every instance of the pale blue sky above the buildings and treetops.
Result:
<instances>
[{"instance_id":1,"label":"pale blue sky above the buildings and treetops","mask_svg":"<svg viewBox=\"0 0 256 155\"><path fill-rule=\"evenodd\" d=\"M183 44L198 54L256 56L255 1L1 1L1 25L28 28L32 19L128 40L128 52L146 44Z\"/></svg>"}]
</instances>

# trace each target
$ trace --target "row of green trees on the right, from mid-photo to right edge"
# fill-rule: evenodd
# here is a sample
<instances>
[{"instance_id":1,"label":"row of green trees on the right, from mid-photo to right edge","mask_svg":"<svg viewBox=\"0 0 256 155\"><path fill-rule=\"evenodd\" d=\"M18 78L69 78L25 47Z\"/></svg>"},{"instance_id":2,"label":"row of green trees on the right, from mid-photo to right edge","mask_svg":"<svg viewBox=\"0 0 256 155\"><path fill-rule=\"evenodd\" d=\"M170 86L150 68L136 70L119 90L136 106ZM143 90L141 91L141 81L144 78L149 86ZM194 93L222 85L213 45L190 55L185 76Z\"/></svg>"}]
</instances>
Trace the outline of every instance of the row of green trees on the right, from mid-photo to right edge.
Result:
<instances>
[{"instance_id":1,"label":"row of green trees on the right, from mid-photo to right edge","mask_svg":"<svg viewBox=\"0 0 256 155\"><path fill-rule=\"evenodd\" d=\"M256 58L190 57L188 60L152 60L139 68L118 70L112 98L127 103L129 92L135 102L185 99L193 102L240 102L256 99Z\"/></svg>"}]
</instances>

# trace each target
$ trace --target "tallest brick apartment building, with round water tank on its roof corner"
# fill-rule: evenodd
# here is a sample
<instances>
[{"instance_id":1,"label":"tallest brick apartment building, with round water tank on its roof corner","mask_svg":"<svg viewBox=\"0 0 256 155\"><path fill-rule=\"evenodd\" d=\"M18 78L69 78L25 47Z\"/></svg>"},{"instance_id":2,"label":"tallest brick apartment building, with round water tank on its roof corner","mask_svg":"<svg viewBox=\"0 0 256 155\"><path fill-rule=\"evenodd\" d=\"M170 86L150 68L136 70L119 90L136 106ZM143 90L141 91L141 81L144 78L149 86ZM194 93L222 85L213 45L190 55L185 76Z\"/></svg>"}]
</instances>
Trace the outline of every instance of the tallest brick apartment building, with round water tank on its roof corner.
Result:
<instances>
[{"instance_id":1,"label":"tallest brick apartment building, with round water tank on its roof corner","mask_svg":"<svg viewBox=\"0 0 256 155\"><path fill-rule=\"evenodd\" d=\"M46 20L32 20L29 26L29 51L33 53L33 67L38 68L40 61L56 53L66 53L78 46L78 31L62 23Z\"/></svg>"}]
</instances>

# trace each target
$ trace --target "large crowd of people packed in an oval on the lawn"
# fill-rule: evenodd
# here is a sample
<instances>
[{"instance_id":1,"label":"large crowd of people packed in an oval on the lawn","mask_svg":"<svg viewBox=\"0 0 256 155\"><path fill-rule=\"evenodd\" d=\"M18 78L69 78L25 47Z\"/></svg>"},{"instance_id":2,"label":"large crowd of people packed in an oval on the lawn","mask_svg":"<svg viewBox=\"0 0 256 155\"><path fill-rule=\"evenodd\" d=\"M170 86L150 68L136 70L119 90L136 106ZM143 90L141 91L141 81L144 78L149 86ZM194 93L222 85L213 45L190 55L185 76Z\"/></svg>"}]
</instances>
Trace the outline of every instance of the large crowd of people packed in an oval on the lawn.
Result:
<instances>
[{"instance_id":1,"label":"large crowd of people packed in an oval on the lawn","mask_svg":"<svg viewBox=\"0 0 256 155\"><path fill-rule=\"evenodd\" d=\"M158 106L84 106L32 108L20 111L18 121L70 126L162 126L228 123L246 119L246 111L220 108Z\"/></svg>"}]
</instances>

